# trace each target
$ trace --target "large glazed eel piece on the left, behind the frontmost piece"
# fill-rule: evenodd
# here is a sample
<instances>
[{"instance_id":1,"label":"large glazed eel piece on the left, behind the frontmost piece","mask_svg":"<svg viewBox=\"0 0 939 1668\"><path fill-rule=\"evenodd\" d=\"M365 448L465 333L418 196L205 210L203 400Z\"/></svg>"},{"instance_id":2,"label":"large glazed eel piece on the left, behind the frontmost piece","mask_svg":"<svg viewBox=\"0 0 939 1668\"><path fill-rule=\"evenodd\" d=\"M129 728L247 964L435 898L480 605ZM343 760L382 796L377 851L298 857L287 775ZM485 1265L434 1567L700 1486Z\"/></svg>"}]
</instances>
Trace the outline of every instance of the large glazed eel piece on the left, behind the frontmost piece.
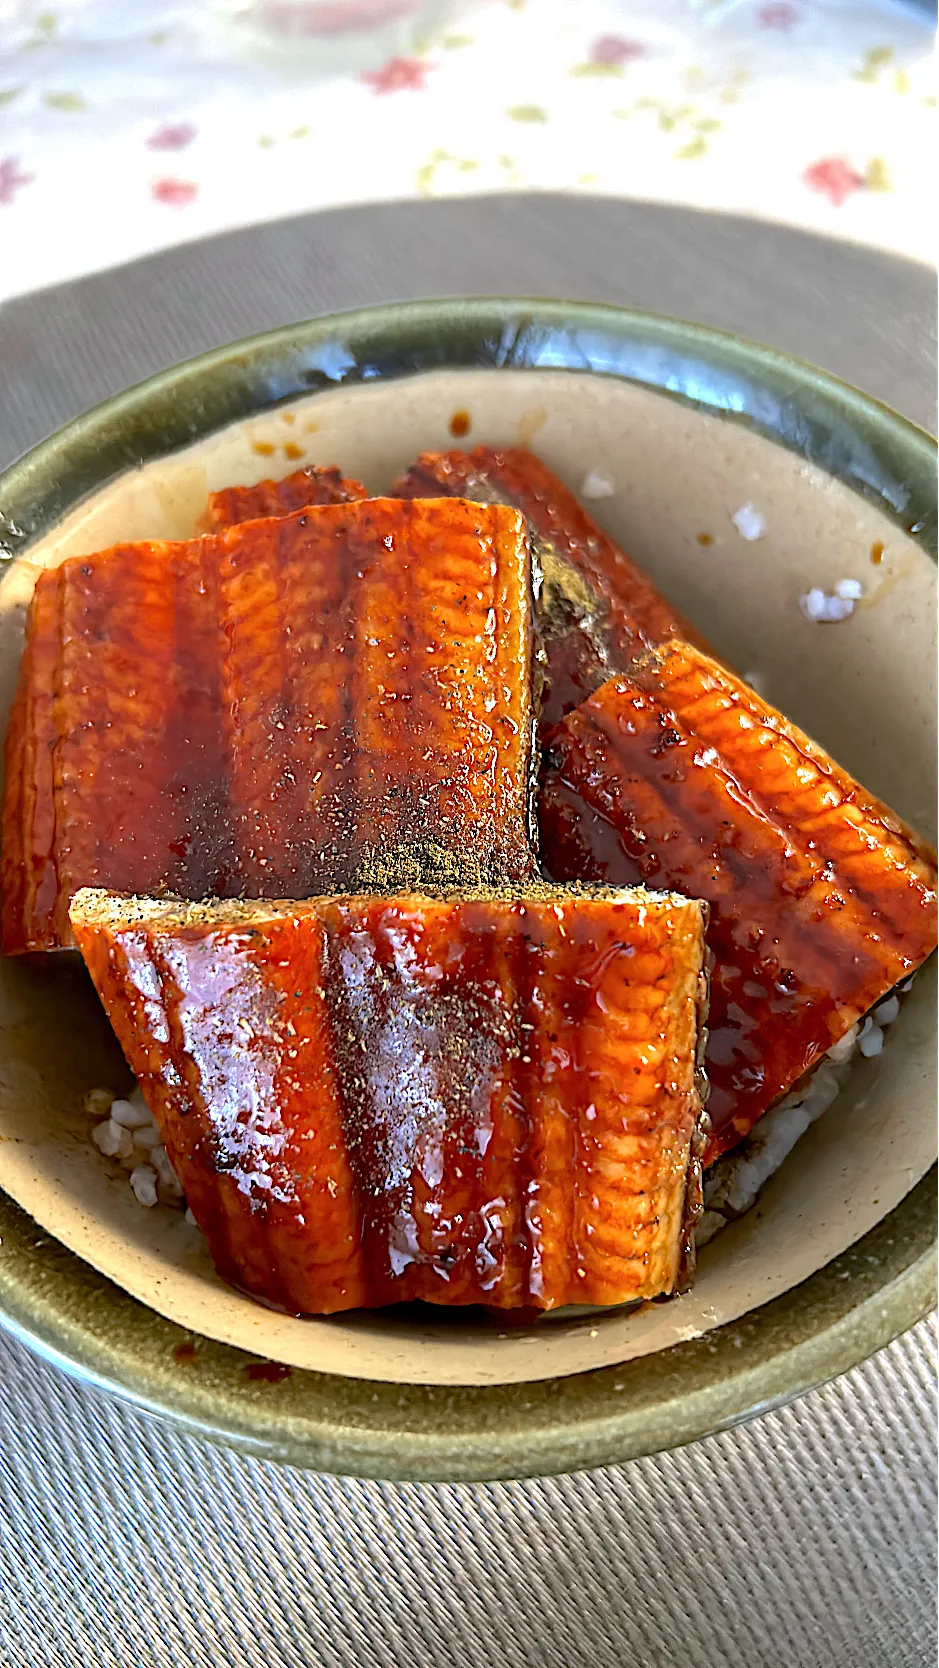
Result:
<instances>
[{"instance_id":1,"label":"large glazed eel piece on the left, behind the frontmost piece","mask_svg":"<svg viewBox=\"0 0 939 1668\"><path fill-rule=\"evenodd\" d=\"M7 734L7 954L82 886L185 897L525 881L525 524L369 499L43 572Z\"/></svg>"}]
</instances>

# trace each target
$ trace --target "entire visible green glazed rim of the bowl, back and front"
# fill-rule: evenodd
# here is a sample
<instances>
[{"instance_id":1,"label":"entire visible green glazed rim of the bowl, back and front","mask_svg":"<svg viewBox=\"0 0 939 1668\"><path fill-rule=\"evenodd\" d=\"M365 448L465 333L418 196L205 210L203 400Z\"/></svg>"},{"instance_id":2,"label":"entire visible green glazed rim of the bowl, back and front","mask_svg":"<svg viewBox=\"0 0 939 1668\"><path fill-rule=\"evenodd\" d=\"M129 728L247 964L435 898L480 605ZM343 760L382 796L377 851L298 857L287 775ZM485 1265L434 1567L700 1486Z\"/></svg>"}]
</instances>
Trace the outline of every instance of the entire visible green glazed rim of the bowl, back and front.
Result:
<instances>
[{"instance_id":1,"label":"entire visible green glazed rim of the bowl, back and front","mask_svg":"<svg viewBox=\"0 0 939 1668\"><path fill-rule=\"evenodd\" d=\"M92 490L203 434L330 387L449 367L577 370L746 424L872 499L936 557L936 445L836 377L704 325L599 304L427 300L287 325L163 370L0 475L0 560ZM320 1471L480 1481L680 1446L866 1359L936 1301L936 1171L856 1246L741 1321L615 1368L489 1388L294 1369L193 1339L0 1193L0 1324L85 1384L244 1453ZM183 1359L190 1351L183 1351Z\"/></svg>"}]
</instances>

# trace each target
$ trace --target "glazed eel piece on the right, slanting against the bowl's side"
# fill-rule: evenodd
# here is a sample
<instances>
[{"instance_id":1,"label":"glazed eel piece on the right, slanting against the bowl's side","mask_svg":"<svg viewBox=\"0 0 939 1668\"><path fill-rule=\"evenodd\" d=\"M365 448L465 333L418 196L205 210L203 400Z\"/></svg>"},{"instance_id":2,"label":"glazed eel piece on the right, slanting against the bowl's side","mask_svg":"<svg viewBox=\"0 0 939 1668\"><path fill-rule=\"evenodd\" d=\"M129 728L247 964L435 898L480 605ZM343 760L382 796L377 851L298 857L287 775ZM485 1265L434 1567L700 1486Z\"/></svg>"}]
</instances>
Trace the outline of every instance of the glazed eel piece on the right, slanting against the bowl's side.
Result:
<instances>
[{"instance_id":1,"label":"glazed eel piece on the right, slanting against the bowl's side","mask_svg":"<svg viewBox=\"0 0 939 1668\"><path fill-rule=\"evenodd\" d=\"M540 834L555 879L709 902L709 1159L936 946L934 852L687 644L557 726Z\"/></svg>"}]
</instances>

